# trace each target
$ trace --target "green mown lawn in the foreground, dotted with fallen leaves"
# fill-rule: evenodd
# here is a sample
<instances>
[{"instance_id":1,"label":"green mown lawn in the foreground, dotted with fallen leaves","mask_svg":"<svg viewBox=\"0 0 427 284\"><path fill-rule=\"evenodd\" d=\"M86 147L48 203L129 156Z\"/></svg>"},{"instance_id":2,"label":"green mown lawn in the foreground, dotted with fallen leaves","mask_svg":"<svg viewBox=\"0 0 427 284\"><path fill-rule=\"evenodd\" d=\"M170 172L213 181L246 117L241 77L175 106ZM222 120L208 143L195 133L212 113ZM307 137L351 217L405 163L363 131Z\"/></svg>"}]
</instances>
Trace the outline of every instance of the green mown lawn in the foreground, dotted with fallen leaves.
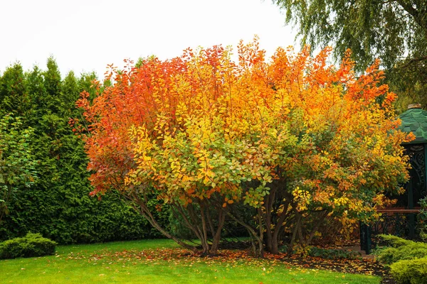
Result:
<instances>
[{"instance_id":1,"label":"green mown lawn in the foreground, dotted with fallen leaves","mask_svg":"<svg viewBox=\"0 0 427 284\"><path fill-rule=\"evenodd\" d=\"M0 261L0 283L379 283L370 275L276 260L186 256L169 240L58 246L56 256Z\"/></svg>"}]
</instances>

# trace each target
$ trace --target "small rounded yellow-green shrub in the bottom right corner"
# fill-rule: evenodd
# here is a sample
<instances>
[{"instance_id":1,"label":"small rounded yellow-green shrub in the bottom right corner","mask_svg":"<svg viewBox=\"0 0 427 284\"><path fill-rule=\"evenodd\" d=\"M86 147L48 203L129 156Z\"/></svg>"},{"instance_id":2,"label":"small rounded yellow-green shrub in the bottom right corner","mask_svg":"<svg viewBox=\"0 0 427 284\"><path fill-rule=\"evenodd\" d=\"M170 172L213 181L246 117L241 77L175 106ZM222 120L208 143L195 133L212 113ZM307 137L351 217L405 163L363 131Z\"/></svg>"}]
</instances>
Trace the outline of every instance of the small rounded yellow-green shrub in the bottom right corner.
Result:
<instances>
[{"instance_id":1,"label":"small rounded yellow-green shrub in the bottom right corner","mask_svg":"<svg viewBox=\"0 0 427 284\"><path fill-rule=\"evenodd\" d=\"M391 264L390 273L401 284L426 284L427 258L397 261Z\"/></svg>"}]
</instances>

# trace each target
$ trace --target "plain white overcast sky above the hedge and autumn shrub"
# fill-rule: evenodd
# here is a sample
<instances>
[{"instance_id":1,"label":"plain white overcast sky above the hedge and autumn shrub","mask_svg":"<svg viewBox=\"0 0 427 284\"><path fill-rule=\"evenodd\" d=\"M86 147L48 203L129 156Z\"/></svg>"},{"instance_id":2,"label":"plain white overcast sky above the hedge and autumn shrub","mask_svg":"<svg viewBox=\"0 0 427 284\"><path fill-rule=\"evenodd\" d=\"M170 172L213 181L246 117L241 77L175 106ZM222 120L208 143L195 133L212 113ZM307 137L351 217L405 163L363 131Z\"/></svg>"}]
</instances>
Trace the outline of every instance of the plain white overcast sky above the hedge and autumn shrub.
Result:
<instances>
[{"instance_id":1,"label":"plain white overcast sky above the hedge and autumn shrub","mask_svg":"<svg viewBox=\"0 0 427 284\"><path fill-rule=\"evenodd\" d=\"M270 0L0 0L0 73L16 61L45 69L50 55L61 75L97 72L107 64L185 48L236 46L260 37L273 54L295 45L295 33Z\"/></svg>"}]
</instances>

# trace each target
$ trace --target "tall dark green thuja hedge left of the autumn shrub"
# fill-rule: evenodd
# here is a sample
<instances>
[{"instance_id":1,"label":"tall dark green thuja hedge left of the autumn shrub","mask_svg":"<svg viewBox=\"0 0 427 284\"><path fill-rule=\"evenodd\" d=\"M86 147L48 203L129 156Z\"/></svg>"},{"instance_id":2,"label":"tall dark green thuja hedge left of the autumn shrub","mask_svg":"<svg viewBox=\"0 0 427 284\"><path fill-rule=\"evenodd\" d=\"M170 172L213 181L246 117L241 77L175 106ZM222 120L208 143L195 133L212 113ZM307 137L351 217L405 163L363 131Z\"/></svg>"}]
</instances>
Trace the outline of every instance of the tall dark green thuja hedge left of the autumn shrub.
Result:
<instances>
[{"instance_id":1,"label":"tall dark green thuja hedge left of the autumn shrub","mask_svg":"<svg viewBox=\"0 0 427 284\"><path fill-rule=\"evenodd\" d=\"M34 67L23 72L16 64L0 73L0 116L20 117L22 127L33 129L28 147L36 161L31 186L13 185L3 203L6 206L0 208L6 210L0 219L0 241L25 236L28 231L58 244L159 236L119 195L89 196L93 188L83 141L68 121L82 118L75 100L83 89L92 92L93 79L93 74L76 78L73 72L62 79L52 58L46 70ZM154 209L156 204L153 198L150 206ZM166 209L156 214L168 224Z\"/></svg>"}]
</instances>

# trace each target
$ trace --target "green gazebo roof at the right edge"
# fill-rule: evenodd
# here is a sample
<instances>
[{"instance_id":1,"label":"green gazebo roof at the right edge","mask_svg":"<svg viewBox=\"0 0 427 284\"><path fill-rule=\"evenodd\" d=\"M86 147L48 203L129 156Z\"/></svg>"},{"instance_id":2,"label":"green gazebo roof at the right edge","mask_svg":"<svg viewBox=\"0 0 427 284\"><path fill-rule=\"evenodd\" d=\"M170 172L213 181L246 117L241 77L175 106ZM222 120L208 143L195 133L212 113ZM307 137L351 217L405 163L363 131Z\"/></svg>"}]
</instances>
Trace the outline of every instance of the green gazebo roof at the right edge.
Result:
<instances>
[{"instance_id":1,"label":"green gazebo roof at the right edge","mask_svg":"<svg viewBox=\"0 0 427 284\"><path fill-rule=\"evenodd\" d=\"M427 111L417 107L408 109L399 117L402 121L399 129L408 133L412 132L416 136L411 144L427 143Z\"/></svg>"}]
</instances>

